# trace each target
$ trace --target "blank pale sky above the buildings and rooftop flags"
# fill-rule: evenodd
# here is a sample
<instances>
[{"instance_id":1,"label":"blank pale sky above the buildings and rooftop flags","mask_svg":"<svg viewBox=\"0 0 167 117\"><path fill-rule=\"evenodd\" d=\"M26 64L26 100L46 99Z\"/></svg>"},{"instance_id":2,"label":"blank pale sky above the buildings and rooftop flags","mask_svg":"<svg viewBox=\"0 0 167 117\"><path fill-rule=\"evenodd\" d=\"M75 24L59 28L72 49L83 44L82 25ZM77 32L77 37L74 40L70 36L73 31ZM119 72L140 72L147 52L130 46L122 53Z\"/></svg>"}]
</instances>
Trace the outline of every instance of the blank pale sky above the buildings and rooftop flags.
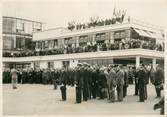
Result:
<instances>
[{"instance_id":1,"label":"blank pale sky above the buildings and rooftop flags","mask_svg":"<svg viewBox=\"0 0 167 117\"><path fill-rule=\"evenodd\" d=\"M68 21L89 21L91 16L112 18L113 8L127 16L167 29L167 0L4 0L4 16L46 23L46 28L66 27Z\"/></svg>"}]
</instances>

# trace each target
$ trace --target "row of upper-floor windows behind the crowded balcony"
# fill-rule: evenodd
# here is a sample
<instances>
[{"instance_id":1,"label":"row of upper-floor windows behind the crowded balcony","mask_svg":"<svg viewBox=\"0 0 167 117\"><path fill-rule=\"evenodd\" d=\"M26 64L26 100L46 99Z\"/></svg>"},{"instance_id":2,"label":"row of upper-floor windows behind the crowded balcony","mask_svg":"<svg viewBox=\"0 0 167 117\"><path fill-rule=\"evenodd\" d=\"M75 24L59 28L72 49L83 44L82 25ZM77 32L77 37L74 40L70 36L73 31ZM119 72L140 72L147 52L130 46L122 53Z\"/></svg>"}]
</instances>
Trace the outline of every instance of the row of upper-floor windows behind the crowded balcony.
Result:
<instances>
[{"instance_id":1,"label":"row of upper-floor windows behind the crowded balcony","mask_svg":"<svg viewBox=\"0 0 167 117\"><path fill-rule=\"evenodd\" d=\"M120 35L119 38L128 38L130 37L130 30L125 30L125 31L117 31L115 33L107 32L107 33L98 33L96 35L83 35L79 36L78 39L76 37L69 37L65 39L55 39L55 40L50 40L50 41L38 41L36 42L36 49L52 49L52 48L57 48L58 46L62 45L72 45L72 44L79 44L84 45L87 42L104 42L106 40L113 40L113 39L118 39L118 36ZM95 36L95 37L93 37ZM113 41L112 41L113 42Z\"/></svg>"}]
</instances>

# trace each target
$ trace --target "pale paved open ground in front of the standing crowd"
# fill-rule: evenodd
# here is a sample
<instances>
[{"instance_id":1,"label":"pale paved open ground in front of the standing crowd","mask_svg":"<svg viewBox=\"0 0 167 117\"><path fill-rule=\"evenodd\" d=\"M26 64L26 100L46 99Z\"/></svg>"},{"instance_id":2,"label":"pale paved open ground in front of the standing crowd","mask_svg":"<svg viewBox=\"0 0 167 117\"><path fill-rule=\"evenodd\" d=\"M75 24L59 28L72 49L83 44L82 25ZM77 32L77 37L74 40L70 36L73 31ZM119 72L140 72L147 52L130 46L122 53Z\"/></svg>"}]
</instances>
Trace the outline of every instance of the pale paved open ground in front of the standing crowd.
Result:
<instances>
[{"instance_id":1,"label":"pale paved open ground in front of the standing crowd","mask_svg":"<svg viewBox=\"0 0 167 117\"><path fill-rule=\"evenodd\" d=\"M133 96L134 86L128 88L128 96L123 102L107 103L107 100L89 100L75 104L75 88L68 87L67 101L60 101L60 90L53 90L52 85L24 84L13 90L10 84L3 85L4 115L112 115L112 114L146 114L159 115L153 105L155 99L154 87L148 86L148 100L137 102L138 96Z\"/></svg>"}]
</instances>

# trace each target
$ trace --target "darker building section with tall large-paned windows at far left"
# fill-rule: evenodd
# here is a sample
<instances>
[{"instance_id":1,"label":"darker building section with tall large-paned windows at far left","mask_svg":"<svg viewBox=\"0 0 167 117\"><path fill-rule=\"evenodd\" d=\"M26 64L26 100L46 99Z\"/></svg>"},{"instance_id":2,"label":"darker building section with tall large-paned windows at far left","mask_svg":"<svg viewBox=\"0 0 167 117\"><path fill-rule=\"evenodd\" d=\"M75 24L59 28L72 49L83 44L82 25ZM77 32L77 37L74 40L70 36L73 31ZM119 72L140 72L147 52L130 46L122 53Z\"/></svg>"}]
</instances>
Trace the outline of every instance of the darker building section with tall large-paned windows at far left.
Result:
<instances>
[{"instance_id":1,"label":"darker building section with tall large-paned windows at far left","mask_svg":"<svg viewBox=\"0 0 167 117\"><path fill-rule=\"evenodd\" d=\"M3 56L34 50L32 33L42 31L42 23L16 17L3 17ZM5 67L10 67L6 63Z\"/></svg>"}]
</instances>

